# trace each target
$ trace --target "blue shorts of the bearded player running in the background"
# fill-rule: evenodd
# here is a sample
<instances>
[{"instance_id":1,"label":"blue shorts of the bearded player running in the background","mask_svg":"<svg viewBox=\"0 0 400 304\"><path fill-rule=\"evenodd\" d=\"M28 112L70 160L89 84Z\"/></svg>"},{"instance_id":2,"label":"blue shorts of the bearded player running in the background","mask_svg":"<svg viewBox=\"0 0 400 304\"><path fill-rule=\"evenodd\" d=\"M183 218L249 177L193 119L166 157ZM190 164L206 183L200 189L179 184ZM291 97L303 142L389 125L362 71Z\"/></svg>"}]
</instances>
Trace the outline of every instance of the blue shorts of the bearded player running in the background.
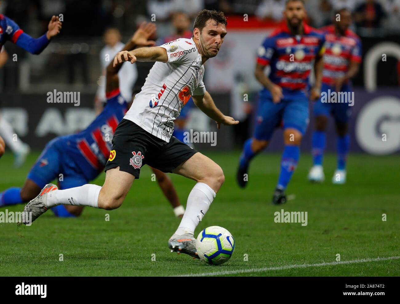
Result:
<instances>
[{"instance_id":1,"label":"blue shorts of the bearded player running in the background","mask_svg":"<svg viewBox=\"0 0 400 304\"><path fill-rule=\"evenodd\" d=\"M309 122L308 97L300 92L290 94L283 92L279 103L273 103L272 97L260 97L256 115L254 138L270 140L274 129L283 123L283 129L294 128L303 135Z\"/></svg>"}]
</instances>

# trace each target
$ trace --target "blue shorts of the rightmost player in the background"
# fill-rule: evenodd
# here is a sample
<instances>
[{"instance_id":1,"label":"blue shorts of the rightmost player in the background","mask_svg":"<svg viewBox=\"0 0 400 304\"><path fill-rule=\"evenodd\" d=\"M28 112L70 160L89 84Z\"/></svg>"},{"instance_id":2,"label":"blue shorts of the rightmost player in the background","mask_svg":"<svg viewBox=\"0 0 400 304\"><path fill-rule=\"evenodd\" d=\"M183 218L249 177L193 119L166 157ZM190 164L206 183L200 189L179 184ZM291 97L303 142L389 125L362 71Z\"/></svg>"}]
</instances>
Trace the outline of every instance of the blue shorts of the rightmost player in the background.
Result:
<instances>
[{"instance_id":1,"label":"blue shorts of the rightmost player in the background","mask_svg":"<svg viewBox=\"0 0 400 304\"><path fill-rule=\"evenodd\" d=\"M328 93L328 90L330 89L331 92L335 91L335 88L327 85L325 83L322 83L321 87L321 94L322 92ZM351 87L348 84L344 84L340 88L341 92L350 92L351 94ZM321 97L322 99L322 97ZM347 123L350 120L351 112L352 112L352 107L349 105L349 103L328 103L328 102L322 102L320 100L316 101L314 104L314 117L315 116L329 116L330 114L334 117L335 121L340 122L340 123Z\"/></svg>"}]
</instances>

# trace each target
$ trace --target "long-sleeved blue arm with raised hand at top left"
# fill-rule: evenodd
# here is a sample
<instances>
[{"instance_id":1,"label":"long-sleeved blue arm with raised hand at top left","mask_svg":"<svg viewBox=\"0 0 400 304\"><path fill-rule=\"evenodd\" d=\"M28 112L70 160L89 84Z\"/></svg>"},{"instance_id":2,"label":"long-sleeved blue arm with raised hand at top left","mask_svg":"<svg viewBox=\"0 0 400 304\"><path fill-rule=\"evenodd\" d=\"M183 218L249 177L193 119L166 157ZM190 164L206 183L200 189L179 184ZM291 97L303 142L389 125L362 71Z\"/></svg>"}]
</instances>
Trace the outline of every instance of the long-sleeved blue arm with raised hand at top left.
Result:
<instances>
[{"instance_id":1,"label":"long-sleeved blue arm with raised hand at top left","mask_svg":"<svg viewBox=\"0 0 400 304\"><path fill-rule=\"evenodd\" d=\"M24 31L19 28L18 24L16 24L10 18L7 18L7 25L12 28L12 31L7 33L10 36L10 40L20 48L23 48L34 55L40 54L46 48L46 46L48 46L50 40L54 36L60 34L62 27L62 23L60 22L59 18L52 16L48 24L48 31L46 34L43 34L39 38L35 39L24 33Z\"/></svg>"}]
</instances>

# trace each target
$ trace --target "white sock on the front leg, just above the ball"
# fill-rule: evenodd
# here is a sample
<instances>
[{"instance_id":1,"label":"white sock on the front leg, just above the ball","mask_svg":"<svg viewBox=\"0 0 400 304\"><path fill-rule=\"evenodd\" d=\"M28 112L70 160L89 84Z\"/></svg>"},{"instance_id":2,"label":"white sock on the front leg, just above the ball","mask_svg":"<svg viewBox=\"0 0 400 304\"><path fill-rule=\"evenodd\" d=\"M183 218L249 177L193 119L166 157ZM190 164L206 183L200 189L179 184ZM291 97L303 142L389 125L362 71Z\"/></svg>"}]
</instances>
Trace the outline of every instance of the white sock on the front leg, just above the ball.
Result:
<instances>
[{"instance_id":1,"label":"white sock on the front leg, just above the ball","mask_svg":"<svg viewBox=\"0 0 400 304\"><path fill-rule=\"evenodd\" d=\"M215 192L210 186L204 183L194 185L188 196L186 211L175 234L189 233L193 235L194 229L203 219L214 198Z\"/></svg>"}]
</instances>

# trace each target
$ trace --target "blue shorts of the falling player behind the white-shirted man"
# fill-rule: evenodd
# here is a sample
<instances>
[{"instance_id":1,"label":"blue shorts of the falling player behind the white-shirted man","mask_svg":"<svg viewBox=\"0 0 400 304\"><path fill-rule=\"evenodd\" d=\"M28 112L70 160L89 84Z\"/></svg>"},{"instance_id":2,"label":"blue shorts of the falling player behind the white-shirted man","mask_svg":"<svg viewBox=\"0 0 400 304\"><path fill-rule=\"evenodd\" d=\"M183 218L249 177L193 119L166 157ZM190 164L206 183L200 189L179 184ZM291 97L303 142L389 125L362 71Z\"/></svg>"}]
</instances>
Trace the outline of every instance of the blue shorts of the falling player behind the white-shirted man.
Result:
<instances>
[{"instance_id":1,"label":"blue shorts of the falling player behind the white-shirted man","mask_svg":"<svg viewBox=\"0 0 400 304\"><path fill-rule=\"evenodd\" d=\"M54 179L57 179L60 189L80 187L88 183L74 159L65 153L64 142L60 137L56 137L44 147L30 169L28 179L40 188Z\"/></svg>"}]
</instances>

